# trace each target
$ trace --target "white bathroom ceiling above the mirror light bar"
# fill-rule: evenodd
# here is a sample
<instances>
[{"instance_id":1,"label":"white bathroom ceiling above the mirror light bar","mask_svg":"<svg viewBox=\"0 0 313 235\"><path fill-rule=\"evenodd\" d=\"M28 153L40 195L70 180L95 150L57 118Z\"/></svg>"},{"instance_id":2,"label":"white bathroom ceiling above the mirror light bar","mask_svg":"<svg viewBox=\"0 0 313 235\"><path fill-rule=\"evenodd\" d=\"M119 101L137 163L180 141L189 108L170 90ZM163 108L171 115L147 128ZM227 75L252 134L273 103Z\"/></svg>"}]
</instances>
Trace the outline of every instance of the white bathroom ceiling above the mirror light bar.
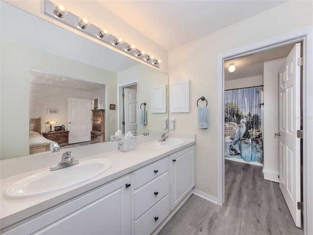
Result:
<instances>
[{"instance_id":1,"label":"white bathroom ceiling above the mirror light bar","mask_svg":"<svg viewBox=\"0 0 313 235\"><path fill-rule=\"evenodd\" d=\"M286 0L97 0L168 51Z\"/></svg>"}]
</instances>

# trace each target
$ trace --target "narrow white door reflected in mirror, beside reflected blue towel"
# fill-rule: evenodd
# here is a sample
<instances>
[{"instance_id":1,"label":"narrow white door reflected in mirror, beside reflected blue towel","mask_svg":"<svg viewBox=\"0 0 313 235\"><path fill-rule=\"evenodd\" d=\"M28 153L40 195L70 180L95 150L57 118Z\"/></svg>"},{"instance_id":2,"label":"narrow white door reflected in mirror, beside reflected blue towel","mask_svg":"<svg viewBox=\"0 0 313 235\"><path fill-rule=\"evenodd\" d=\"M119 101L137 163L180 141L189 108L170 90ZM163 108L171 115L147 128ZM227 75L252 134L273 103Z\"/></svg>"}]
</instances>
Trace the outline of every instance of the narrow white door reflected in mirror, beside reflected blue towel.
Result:
<instances>
[{"instance_id":1,"label":"narrow white door reflected in mirror, beside reflected blue towel","mask_svg":"<svg viewBox=\"0 0 313 235\"><path fill-rule=\"evenodd\" d=\"M124 134L137 136L137 90L124 88Z\"/></svg>"}]
</instances>

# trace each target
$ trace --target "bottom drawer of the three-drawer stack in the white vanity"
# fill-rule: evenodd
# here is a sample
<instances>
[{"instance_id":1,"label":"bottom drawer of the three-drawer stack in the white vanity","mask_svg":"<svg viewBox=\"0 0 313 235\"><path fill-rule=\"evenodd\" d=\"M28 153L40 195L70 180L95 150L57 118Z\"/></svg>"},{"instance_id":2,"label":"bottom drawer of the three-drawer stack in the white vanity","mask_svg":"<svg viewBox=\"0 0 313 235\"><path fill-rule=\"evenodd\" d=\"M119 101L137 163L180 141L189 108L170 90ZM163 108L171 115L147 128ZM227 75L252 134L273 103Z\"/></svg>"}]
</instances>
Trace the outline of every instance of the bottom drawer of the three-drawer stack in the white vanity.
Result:
<instances>
[{"instance_id":1,"label":"bottom drawer of the three-drawer stack in the white vanity","mask_svg":"<svg viewBox=\"0 0 313 235\"><path fill-rule=\"evenodd\" d=\"M163 197L156 205L135 221L135 234L151 234L169 214L169 195Z\"/></svg>"}]
</instances>

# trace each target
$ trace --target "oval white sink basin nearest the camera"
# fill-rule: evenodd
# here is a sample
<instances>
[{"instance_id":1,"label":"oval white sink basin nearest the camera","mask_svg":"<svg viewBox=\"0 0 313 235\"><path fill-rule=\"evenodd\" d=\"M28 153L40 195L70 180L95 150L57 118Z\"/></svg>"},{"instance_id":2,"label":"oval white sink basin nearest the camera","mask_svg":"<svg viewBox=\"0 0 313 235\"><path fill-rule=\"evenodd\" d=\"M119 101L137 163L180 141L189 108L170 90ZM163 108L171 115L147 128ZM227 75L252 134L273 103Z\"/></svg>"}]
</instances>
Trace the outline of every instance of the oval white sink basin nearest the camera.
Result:
<instances>
[{"instance_id":1,"label":"oval white sink basin nearest the camera","mask_svg":"<svg viewBox=\"0 0 313 235\"><path fill-rule=\"evenodd\" d=\"M25 199L62 191L96 178L111 167L111 160L92 159L54 171L46 169L14 183L6 189L5 196Z\"/></svg>"}]
</instances>

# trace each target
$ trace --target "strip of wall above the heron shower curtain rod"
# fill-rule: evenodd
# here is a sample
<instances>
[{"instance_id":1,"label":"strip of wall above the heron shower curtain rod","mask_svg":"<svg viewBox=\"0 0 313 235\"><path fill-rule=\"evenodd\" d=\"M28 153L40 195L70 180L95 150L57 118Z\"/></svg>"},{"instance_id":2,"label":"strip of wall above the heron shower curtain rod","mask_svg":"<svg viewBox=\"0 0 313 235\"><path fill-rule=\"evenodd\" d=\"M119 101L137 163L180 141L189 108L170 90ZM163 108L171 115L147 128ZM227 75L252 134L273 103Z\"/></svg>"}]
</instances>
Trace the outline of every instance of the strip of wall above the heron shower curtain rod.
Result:
<instances>
[{"instance_id":1,"label":"strip of wall above the heron shower curtain rod","mask_svg":"<svg viewBox=\"0 0 313 235\"><path fill-rule=\"evenodd\" d=\"M245 77L230 81L225 81L225 90L246 88L246 87L257 87L263 85L263 76Z\"/></svg>"}]
</instances>

